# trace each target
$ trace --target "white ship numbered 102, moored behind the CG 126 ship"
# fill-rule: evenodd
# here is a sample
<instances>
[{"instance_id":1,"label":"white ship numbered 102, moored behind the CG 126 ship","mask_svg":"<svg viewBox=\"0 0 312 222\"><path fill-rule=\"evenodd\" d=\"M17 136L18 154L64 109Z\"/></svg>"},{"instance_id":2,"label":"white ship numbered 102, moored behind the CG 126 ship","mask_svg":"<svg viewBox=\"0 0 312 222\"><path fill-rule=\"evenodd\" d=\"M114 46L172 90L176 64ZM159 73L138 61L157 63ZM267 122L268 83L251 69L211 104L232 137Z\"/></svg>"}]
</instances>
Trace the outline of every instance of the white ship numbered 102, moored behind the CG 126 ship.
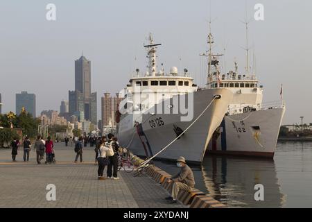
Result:
<instances>
[{"instance_id":1,"label":"white ship numbered 102, moored behind the CG 126 ship","mask_svg":"<svg viewBox=\"0 0 312 222\"><path fill-rule=\"evenodd\" d=\"M262 104L263 87L256 75L250 74L248 44L246 49L245 74L239 74L236 62L234 71L223 74L220 79L209 74L210 89L229 89L234 95L207 153L272 158L285 105L283 101Z\"/></svg>"}]
</instances>

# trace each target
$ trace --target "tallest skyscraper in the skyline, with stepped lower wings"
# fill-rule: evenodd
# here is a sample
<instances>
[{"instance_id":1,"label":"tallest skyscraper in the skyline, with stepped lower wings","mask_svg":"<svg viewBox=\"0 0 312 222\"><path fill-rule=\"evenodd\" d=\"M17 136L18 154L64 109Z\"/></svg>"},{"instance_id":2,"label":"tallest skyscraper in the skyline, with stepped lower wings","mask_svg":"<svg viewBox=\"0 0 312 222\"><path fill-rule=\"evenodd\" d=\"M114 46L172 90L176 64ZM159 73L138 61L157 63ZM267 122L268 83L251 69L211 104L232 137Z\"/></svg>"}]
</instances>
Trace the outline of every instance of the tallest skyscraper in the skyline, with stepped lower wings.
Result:
<instances>
[{"instance_id":1,"label":"tallest skyscraper in the skyline, with stepped lower wings","mask_svg":"<svg viewBox=\"0 0 312 222\"><path fill-rule=\"evenodd\" d=\"M97 124L96 92L91 93L91 62L81 56L75 61L75 91L69 91L69 113L83 112L83 120Z\"/></svg>"}]
</instances>

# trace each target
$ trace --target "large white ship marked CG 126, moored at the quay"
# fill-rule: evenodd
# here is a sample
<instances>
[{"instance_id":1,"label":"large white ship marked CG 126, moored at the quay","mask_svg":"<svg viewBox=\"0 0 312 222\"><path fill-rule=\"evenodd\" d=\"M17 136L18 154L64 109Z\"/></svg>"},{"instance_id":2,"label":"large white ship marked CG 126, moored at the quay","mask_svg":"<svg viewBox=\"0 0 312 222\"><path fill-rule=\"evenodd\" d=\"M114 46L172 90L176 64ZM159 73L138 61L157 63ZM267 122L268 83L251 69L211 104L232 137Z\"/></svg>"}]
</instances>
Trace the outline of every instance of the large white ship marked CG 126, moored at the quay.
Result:
<instances>
[{"instance_id":1,"label":"large white ship marked CG 126, moored at the quay","mask_svg":"<svg viewBox=\"0 0 312 222\"><path fill-rule=\"evenodd\" d=\"M150 35L145 46L148 71L140 75L137 69L125 88L117 126L119 143L135 155L152 157L178 137L157 158L176 160L184 156L189 162L202 162L233 94L225 88L199 90L187 69L182 75L176 67L172 67L169 74L165 74L163 68L157 71L159 45ZM187 105L181 105L183 101Z\"/></svg>"}]
</instances>

